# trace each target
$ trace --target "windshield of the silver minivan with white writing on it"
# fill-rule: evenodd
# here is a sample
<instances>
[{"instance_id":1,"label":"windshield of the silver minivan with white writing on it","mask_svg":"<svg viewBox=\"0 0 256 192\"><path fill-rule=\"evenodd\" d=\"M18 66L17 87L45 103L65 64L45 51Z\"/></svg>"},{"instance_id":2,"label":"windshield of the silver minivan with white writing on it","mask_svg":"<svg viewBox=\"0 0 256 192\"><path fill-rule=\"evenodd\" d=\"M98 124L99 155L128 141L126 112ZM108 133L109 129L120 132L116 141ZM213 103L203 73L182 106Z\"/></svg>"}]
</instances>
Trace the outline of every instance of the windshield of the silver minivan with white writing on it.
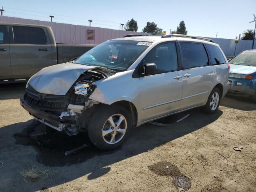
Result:
<instances>
[{"instance_id":1,"label":"windshield of the silver minivan with white writing on it","mask_svg":"<svg viewBox=\"0 0 256 192\"><path fill-rule=\"evenodd\" d=\"M116 72L126 70L148 48L138 41L106 41L83 54L76 64L101 66Z\"/></svg>"}]
</instances>

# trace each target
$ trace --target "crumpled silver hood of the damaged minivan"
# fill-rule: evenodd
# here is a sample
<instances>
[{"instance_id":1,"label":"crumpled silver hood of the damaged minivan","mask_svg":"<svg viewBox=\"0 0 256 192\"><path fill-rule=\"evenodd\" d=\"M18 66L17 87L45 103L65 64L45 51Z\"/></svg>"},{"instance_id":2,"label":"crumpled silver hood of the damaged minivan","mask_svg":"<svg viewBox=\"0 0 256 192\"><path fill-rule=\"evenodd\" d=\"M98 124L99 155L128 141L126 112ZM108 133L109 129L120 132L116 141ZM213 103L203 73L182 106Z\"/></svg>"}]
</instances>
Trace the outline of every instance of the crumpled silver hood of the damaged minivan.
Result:
<instances>
[{"instance_id":1,"label":"crumpled silver hood of the damaged minivan","mask_svg":"<svg viewBox=\"0 0 256 192\"><path fill-rule=\"evenodd\" d=\"M116 73L103 67L68 62L43 68L28 80L28 84L40 93L65 95L82 73L94 69Z\"/></svg>"}]
</instances>

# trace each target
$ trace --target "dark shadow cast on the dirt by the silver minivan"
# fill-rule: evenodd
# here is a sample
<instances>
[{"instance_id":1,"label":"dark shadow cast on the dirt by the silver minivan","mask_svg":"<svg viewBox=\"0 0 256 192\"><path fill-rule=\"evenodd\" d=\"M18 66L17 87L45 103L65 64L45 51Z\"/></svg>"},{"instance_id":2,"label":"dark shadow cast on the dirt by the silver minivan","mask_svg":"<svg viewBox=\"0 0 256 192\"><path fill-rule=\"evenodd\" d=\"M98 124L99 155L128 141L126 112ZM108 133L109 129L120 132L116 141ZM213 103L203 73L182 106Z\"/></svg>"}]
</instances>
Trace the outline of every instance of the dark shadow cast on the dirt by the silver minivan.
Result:
<instances>
[{"instance_id":1,"label":"dark shadow cast on the dirt by the silver minivan","mask_svg":"<svg viewBox=\"0 0 256 192\"><path fill-rule=\"evenodd\" d=\"M41 141L35 144L28 139L27 134L34 127L42 125L36 120L2 127L0 128L0 161L3 163L0 168L2 188L10 191L37 191L64 184L85 175L88 175L89 180L99 178L110 172L111 165L116 162L153 150L211 124L222 115L222 111L218 110L216 114L205 115L197 108L187 111L186 114L190 115L169 126L144 124L134 128L122 148L109 152L98 150L88 142L88 138L84 135L69 137L54 133L48 146L42 146ZM80 153L65 156L63 150L74 148L74 143L77 146L85 143L91 146L84 148ZM20 173L32 166L40 170L49 170L49 176L36 182L24 182L24 176Z\"/></svg>"}]
</instances>

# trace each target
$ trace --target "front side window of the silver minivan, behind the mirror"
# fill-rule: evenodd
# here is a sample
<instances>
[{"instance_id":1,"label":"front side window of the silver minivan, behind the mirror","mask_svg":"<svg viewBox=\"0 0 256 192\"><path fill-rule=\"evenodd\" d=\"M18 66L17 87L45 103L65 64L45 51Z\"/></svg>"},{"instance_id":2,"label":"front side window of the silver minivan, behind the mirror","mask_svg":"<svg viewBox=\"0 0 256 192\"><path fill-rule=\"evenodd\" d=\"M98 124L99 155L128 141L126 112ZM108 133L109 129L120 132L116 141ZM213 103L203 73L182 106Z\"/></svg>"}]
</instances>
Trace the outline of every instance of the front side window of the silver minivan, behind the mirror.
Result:
<instances>
[{"instance_id":1,"label":"front side window of the silver minivan, behind the mirror","mask_svg":"<svg viewBox=\"0 0 256 192\"><path fill-rule=\"evenodd\" d=\"M178 60L175 42L160 44L154 47L144 58L144 64L154 63L157 73L178 69Z\"/></svg>"}]
</instances>

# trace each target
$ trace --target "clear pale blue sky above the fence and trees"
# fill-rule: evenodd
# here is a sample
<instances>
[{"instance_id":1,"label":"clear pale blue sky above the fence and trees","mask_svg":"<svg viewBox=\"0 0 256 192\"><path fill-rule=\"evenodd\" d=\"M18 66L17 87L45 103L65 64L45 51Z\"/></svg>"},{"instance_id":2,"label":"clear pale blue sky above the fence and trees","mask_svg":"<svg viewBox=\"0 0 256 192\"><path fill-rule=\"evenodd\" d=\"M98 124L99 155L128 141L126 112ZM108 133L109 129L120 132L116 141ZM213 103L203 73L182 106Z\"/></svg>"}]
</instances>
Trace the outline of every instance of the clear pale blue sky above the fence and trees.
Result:
<instances>
[{"instance_id":1,"label":"clear pale blue sky above the fence and trees","mask_svg":"<svg viewBox=\"0 0 256 192\"><path fill-rule=\"evenodd\" d=\"M256 0L8 0L4 16L119 29L132 18L142 32L155 22L167 33L184 20L188 35L234 39L254 29Z\"/></svg>"}]
</instances>

